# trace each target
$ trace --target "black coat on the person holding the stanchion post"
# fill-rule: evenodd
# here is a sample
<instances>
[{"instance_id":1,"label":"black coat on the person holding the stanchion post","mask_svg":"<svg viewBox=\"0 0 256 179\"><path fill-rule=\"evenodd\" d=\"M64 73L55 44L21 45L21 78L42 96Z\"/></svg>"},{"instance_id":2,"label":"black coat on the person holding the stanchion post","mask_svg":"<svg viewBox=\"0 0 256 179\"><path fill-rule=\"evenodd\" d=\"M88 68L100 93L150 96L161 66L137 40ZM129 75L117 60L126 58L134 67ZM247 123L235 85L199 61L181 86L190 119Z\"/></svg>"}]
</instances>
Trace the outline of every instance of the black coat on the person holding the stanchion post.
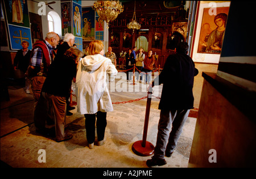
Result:
<instances>
[{"instance_id":1,"label":"black coat on the person holding the stanchion post","mask_svg":"<svg viewBox=\"0 0 256 179\"><path fill-rule=\"evenodd\" d=\"M194 76L198 74L195 63L187 54L170 55L162 73L156 77L152 86L163 83L159 109L192 109Z\"/></svg>"}]
</instances>

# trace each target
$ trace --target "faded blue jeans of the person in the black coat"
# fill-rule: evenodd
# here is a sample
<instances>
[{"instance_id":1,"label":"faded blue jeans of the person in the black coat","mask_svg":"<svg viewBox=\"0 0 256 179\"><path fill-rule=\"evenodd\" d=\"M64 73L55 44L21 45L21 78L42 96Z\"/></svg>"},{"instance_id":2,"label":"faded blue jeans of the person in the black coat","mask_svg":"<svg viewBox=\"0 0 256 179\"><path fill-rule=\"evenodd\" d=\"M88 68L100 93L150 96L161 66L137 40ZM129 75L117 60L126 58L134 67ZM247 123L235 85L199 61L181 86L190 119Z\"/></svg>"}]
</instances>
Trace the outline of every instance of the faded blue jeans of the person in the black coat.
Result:
<instances>
[{"instance_id":1,"label":"faded blue jeans of the person in the black coat","mask_svg":"<svg viewBox=\"0 0 256 179\"><path fill-rule=\"evenodd\" d=\"M174 151L190 109L161 110L158 123L158 137L154 157L164 159L166 153ZM172 129L171 129L172 126ZM171 131L170 131L171 129Z\"/></svg>"}]
</instances>

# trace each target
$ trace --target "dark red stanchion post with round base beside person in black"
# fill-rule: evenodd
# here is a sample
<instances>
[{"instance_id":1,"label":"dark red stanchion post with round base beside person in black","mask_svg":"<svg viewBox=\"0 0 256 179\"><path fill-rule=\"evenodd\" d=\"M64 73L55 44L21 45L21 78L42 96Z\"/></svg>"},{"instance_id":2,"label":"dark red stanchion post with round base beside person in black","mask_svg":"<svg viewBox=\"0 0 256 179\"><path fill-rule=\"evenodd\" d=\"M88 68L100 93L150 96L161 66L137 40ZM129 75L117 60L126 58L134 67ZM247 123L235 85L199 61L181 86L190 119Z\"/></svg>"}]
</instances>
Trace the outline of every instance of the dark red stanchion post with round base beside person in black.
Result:
<instances>
[{"instance_id":1,"label":"dark red stanchion post with round base beside person in black","mask_svg":"<svg viewBox=\"0 0 256 179\"><path fill-rule=\"evenodd\" d=\"M148 128L148 119L150 115L150 105L151 105L151 97L152 93L147 93L147 106L146 106L146 115L145 115L145 122L144 122L144 130L143 130L143 138L142 140L138 140L137 142L133 143L131 149L133 150L134 154L139 156L150 156L154 153L154 145L150 142L147 142L147 128Z\"/></svg>"}]
</instances>

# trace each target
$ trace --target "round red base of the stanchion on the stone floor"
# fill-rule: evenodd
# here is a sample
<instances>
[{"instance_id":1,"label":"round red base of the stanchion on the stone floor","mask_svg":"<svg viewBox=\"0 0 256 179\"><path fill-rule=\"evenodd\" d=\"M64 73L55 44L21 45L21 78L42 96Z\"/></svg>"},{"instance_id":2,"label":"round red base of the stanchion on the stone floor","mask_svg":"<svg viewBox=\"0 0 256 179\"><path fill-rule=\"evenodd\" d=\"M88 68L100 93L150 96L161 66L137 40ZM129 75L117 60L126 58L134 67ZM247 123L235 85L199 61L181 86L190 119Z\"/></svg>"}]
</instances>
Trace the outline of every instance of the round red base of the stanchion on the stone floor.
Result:
<instances>
[{"instance_id":1,"label":"round red base of the stanchion on the stone floor","mask_svg":"<svg viewBox=\"0 0 256 179\"><path fill-rule=\"evenodd\" d=\"M131 150L133 150L134 154L139 156L150 156L154 153L154 145L150 142L146 141L146 146L142 147L142 140L138 140L133 143Z\"/></svg>"}]
</instances>

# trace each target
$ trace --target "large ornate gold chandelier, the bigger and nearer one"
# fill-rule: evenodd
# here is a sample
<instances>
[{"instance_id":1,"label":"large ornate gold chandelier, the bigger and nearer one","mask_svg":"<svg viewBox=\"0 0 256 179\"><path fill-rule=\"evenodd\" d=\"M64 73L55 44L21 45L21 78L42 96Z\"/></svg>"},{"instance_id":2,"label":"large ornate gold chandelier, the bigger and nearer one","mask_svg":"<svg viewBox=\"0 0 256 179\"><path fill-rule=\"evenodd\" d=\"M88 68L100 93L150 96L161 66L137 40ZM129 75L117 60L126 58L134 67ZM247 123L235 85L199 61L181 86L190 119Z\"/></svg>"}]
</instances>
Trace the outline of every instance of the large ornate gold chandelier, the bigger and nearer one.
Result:
<instances>
[{"instance_id":1,"label":"large ornate gold chandelier, the bigger and nearer one","mask_svg":"<svg viewBox=\"0 0 256 179\"><path fill-rule=\"evenodd\" d=\"M109 22L123 12L122 2L119 3L119 1L95 1L92 8L97 11L100 19L105 20L107 28L109 28Z\"/></svg>"}]
</instances>

